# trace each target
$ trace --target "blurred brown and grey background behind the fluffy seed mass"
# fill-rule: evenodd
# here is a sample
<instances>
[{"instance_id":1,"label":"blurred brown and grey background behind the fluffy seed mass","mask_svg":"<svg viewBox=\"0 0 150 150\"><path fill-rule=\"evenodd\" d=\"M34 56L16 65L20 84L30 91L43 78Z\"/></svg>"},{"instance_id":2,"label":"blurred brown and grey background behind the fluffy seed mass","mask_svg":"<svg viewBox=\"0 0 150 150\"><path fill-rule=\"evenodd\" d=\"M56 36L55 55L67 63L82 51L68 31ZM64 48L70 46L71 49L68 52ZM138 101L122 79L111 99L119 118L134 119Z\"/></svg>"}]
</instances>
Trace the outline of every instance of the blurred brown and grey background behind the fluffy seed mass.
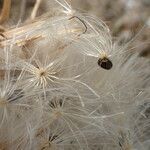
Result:
<instances>
[{"instance_id":1,"label":"blurred brown and grey background behind the fluffy seed mass","mask_svg":"<svg viewBox=\"0 0 150 150\"><path fill-rule=\"evenodd\" d=\"M10 17L1 22L8 29L18 21L34 18L33 9L37 5L36 16L51 11L52 0L0 0L11 1ZM132 38L131 49L140 51L141 56L150 57L150 0L68 0L74 9L96 15L109 26L114 40L126 43Z\"/></svg>"}]
</instances>

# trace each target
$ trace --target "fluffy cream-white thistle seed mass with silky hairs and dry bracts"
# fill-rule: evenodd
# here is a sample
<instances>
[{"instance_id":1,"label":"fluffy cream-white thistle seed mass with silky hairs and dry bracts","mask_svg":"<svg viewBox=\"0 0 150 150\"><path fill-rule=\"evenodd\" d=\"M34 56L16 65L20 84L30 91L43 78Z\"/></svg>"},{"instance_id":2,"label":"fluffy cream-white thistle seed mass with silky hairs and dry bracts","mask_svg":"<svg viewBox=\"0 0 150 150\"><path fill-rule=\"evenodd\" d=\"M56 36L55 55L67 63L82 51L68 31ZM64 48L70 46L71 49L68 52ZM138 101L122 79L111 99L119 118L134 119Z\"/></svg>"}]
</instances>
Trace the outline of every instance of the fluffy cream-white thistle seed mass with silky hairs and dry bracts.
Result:
<instances>
[{"instance_id":1,"label":"fluffy cream-white thistle seed mass with silky hairs and dry bracts","mask_svg":"<svg viewBox=\"0 0 150 150\"><path fill-rule=\"evenodd\" d=\"M149 60L65 0L1 32L1 150L149 150Z\"/></svg>"}]
</instances>

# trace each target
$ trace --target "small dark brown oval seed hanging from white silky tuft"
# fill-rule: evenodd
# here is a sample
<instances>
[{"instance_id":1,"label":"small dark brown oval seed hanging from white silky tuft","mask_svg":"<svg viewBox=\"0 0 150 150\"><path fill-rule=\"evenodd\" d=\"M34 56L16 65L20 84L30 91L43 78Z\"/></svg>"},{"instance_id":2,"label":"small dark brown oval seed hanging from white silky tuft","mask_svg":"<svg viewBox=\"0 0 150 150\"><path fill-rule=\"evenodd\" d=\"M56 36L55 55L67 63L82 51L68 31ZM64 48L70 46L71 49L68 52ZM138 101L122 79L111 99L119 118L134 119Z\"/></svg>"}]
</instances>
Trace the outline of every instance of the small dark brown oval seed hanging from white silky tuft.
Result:
<instances>
[{"instance_id":1,"label":"small dark brown oval seed hanging from white silky tuft","mask_svg":"<svg viewBox=\"0 0 150 150\"><path fill-rule=\"evenodd\" d=\"M100 58L97 63L100 67L106 70L110 70L113 66L112 62L106 57Z\"/></svg>"}]
</instances>

